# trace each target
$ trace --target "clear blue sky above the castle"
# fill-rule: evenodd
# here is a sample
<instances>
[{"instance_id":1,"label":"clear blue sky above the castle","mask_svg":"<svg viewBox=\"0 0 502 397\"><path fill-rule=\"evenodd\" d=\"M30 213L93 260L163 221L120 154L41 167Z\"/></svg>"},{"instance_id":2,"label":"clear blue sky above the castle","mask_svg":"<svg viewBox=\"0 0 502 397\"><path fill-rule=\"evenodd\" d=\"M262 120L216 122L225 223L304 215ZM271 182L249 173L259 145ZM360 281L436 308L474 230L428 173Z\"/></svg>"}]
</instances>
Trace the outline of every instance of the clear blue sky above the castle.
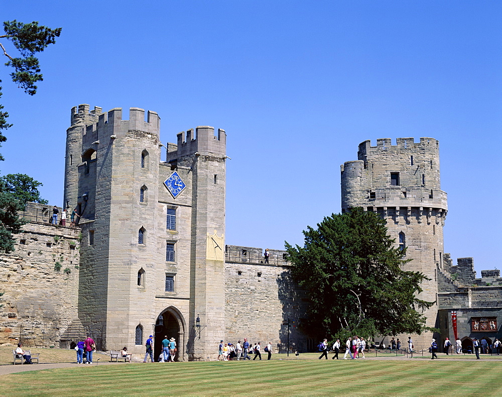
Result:
<instances>
[{"instance_id":1,"label":"clear blue sky above the castle","mask_svg":"<svg viewBox=\"0 0 502 397\"><path fill-rule=\"evenodd\" d=\"M360 142L433 137L445 252L500 268L501 2L4 0L2 11L63 28L35 96L0 68L14 124L0 172L43 182L51 204L82 103L156 111L164 144L223 128L226 243L262 248L301 244L340 211L340 164Z\"/></svg>"}]
</instances>

